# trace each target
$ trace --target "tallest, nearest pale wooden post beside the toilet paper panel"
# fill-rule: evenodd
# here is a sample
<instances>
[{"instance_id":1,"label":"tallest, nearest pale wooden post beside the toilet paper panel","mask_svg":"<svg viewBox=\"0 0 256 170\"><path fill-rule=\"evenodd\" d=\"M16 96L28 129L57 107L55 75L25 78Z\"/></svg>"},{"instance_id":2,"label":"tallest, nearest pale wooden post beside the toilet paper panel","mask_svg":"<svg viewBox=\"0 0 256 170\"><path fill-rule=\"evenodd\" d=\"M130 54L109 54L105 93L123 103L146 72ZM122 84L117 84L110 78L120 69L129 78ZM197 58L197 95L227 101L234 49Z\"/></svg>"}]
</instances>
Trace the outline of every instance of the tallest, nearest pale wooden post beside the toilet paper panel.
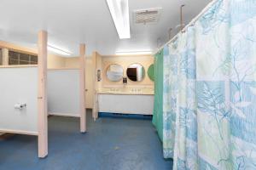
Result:
<instances>
[{"instance_id":1,"label":"tallest, nearest pale wooden post beside the toilet paper panel","mask_svg":"<svg viewBox=\"0 0 256 170\"><path fill-rule=\"evenodd\" d=\"M38 157L48 155L47 31L38 33Z\"/></svg>"}]
</instances>

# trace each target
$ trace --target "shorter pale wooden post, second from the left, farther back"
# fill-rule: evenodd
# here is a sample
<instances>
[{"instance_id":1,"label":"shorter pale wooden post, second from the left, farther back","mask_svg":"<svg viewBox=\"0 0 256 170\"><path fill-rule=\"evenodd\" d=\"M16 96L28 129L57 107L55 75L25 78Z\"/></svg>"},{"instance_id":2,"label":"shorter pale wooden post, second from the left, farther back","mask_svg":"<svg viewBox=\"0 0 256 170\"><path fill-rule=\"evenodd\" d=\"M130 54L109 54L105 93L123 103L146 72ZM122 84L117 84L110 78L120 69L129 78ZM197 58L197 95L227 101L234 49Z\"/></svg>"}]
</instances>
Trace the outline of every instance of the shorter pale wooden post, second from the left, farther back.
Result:
<instances>
[{"instance_id":1,"label":"shorter pale wooden post, second from the left, farther back","mask_svg":"<svg viewBox=\"0 0 256 170\"><path fill-rule=\"evenodd\" d=\"M85 44L80 44L80 132L86 132L85 110Z\"/></svg>"}]
</instances>

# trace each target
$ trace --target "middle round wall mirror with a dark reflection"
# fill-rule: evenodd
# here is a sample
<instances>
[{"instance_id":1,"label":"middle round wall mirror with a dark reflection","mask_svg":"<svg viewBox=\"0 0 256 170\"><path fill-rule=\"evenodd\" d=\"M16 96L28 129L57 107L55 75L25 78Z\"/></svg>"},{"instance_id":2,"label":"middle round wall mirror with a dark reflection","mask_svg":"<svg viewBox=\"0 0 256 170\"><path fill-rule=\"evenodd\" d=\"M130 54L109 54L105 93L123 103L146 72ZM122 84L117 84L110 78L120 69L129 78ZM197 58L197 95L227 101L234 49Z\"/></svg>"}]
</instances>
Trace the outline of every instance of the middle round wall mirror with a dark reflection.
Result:
<instances>
[{"instance_id":1,"label":"middle round wall mirror with a dark reflection","mask_svg":"<svg viewBox=\"0 0 256 170\"><path fill-rule=\"evenodd\" d=\"M127 77L133 82L141 82L145 77L145 69L143 65L132 64L127 68Z\"/></svg>"}]
</instances>

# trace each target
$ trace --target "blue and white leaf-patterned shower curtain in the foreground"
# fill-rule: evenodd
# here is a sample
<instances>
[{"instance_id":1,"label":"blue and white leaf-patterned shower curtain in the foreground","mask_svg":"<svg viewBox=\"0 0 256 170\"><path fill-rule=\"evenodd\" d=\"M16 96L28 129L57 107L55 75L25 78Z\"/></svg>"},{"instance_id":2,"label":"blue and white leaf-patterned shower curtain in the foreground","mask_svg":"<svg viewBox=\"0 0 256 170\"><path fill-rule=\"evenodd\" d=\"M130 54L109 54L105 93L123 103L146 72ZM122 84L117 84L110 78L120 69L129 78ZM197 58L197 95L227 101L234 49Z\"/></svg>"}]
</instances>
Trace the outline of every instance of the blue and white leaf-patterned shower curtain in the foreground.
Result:
<instances>
[{"instance_id":1,"label":"blue and white leaf-patterned shower curtain in the foreground","mask_svg":"<svg viewBox=\"0 0 256 170\"><path fill-rule=\"evenodd\" d=\"M218 0L164 52L173 169L256 169L256 1Z\"/></svg>"}]
</instances>

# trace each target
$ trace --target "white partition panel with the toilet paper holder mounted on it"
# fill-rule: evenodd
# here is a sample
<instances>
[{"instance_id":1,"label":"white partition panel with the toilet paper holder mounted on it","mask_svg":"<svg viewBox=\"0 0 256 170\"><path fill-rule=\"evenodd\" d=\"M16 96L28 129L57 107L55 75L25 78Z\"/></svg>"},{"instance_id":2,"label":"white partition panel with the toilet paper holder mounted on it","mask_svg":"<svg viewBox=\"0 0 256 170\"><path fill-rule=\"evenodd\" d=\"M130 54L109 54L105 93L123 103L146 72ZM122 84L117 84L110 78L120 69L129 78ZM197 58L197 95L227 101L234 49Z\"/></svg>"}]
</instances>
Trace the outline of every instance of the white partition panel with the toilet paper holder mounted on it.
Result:
<instances>
[{"instance_id":1,"label":"white partition panel with the toilet paper holder mounted on it","mask_svg":"<svg viewBox=\"0 0 256 170\"><path fill-rule=\"evenodd\" d=\"M38 68L0 68L0 131L38 133ZM23 110L15 104L26 103Z\"/></svg>"}]
</instances>

